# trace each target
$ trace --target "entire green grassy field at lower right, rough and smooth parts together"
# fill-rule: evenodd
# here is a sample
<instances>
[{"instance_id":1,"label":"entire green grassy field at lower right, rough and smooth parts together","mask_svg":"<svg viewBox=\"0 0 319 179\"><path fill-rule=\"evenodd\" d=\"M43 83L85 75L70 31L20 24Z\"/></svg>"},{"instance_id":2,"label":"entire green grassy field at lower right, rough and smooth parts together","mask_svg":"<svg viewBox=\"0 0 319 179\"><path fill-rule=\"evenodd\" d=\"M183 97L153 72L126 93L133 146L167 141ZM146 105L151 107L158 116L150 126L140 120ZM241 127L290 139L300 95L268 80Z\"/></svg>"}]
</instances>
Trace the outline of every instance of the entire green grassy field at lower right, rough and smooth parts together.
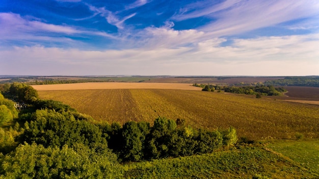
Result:
<instances>
[{"instance_id":1,"label":"entire green grassy field at lower right, rough and smooth parts together","mask_svg":"<svg viewBox=\"0 0 319 179\"><path fill-rule=\"evenodd\" d=\"M318 145L319 141L273 141L271 144L264 144L266 147L238 146L227 151L201 156L131 163L124 165L124 176L127 178L252 178L253 176L318 178Z\"/></svg>"}]
</instances>

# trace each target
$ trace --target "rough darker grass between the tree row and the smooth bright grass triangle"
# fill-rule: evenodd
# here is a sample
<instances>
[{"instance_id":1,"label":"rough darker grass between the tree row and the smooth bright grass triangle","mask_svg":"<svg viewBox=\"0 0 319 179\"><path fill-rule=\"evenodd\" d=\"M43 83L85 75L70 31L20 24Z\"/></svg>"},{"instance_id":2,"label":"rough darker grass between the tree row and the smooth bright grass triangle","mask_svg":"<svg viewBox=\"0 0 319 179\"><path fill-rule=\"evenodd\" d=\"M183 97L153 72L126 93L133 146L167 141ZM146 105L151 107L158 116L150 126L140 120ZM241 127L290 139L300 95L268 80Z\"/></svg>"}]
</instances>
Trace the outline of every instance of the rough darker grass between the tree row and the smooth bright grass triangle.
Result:
<instances>
[{"instance_id":1,"label":"rough darker grass between the tree row and the smooth bright grass triangle","mask_svg":"<svg viewBox=\"0 0 319 179\"><path fill-rule=\"evenodd\" d=\"M201 156L153 160L124 165L126 178L315 178L295 161L262 149L240 146Z\"/></svg>"}]
</instances>

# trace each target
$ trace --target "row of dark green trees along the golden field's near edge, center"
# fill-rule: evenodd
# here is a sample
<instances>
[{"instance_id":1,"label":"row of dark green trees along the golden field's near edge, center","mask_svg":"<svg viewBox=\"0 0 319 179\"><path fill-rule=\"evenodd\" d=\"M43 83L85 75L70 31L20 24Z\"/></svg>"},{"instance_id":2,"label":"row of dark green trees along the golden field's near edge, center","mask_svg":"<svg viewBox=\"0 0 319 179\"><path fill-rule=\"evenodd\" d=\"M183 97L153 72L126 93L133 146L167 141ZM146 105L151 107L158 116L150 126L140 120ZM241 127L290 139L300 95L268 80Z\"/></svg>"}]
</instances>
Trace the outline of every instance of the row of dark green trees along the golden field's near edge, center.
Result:
<instances>
[{"instance_id":1,"label":"row of dark green trees along the golden field's near edge, center","mask_svg":"<svg viewBox=\"0 0 319 179\"><path fill-rule=\"evenodd\" d=\"M204 154L237 140L232 127L225 131L195 130L190 126L177 126L174 120L164 117L157 118L152 127L146 122L126 122L119 131L121 134L117 138L121 142L109 146L123 161ZM112 133L109 132L111 139Z\"/></svg>"}]
</instances>

